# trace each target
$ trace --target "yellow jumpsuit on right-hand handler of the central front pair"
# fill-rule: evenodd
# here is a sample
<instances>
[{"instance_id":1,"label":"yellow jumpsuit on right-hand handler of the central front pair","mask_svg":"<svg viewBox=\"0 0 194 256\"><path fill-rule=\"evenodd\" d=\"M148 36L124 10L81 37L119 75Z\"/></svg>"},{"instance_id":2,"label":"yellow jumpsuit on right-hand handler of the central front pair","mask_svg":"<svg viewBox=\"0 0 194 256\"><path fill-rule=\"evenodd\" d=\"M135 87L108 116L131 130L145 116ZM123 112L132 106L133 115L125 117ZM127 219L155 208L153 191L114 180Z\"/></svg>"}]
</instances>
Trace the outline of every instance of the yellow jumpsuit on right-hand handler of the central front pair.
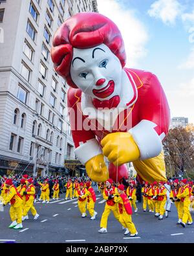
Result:
<instances>
[{"instance_id":1,"label":"yellow jumpsuit on right-hand handler of the central front pair","mask_svg":"<svg viewBox=\"0 0 194 256\"><path fill-rule=\"evenodd\" d=\"M125 210L125 206L124 206L124 202L123 202L122 198L120 196L118 196L118 197L115 196L114 202L120 204L120 208L121 208L120 215L119 215L120 224L122 224L123 227L129 229L129 232L131 232L131 234L135 234L136 233L135 225L132 222L131 215L129 215L127 213L127 211ZM129 203L130 203L130 200L129 200Z\"/></svg>"}]
</instances>

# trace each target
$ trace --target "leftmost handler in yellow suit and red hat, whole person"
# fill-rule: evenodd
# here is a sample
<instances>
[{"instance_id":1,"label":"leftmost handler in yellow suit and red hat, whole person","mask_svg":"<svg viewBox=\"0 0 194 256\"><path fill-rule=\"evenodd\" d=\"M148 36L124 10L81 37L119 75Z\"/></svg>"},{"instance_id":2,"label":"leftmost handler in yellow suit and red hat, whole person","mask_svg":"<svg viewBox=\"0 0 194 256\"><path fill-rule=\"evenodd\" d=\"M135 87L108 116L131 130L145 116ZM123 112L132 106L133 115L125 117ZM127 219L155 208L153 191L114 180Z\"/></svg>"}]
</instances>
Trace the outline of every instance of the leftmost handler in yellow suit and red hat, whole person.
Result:
<instances>
[{"instance_id":1,"label":"leftmost handler in yellow suit and red hat, whole person","mask_svg":"<svg viewBox=\"0 0 194 256\"><path fill-rule=\"evenodd\" d=\"M6 196L3 204L6 205L10 202L10 218L12 220L12 224L10 224L10 228L14 229L22 229L22 198L17 191L16 187L13 185L12 179L6 180L6 187L8 188L8 195Z\"/></svg>"}]
</instances>

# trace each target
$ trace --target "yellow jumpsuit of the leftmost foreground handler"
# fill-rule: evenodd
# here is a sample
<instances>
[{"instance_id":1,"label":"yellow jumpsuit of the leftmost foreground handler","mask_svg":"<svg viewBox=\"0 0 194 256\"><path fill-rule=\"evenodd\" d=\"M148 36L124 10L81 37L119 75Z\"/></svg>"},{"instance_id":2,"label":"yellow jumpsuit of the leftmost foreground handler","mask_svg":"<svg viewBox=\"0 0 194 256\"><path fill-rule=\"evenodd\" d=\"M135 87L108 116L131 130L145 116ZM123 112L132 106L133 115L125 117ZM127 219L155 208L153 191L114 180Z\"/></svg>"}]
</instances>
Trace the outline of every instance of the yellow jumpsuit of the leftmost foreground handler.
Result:
<instances>
[{"instance_id":1,"label":"yellow jumpsuit of the leftmost foreground handler","mask_svg":"<svg viewBox=\"0 0 194 256\"><path fill-rule=\"evenodd\" d=\"M12 222L15 220L17 221L17 224L21 224L22 221L22 199L19 195L19 192L17 192L16 187L14 185L10 186L10 189L8 190L8 194L3 201L3 204L8 204L10 202L10 218Z\"/></svg>"}]
</instances>

